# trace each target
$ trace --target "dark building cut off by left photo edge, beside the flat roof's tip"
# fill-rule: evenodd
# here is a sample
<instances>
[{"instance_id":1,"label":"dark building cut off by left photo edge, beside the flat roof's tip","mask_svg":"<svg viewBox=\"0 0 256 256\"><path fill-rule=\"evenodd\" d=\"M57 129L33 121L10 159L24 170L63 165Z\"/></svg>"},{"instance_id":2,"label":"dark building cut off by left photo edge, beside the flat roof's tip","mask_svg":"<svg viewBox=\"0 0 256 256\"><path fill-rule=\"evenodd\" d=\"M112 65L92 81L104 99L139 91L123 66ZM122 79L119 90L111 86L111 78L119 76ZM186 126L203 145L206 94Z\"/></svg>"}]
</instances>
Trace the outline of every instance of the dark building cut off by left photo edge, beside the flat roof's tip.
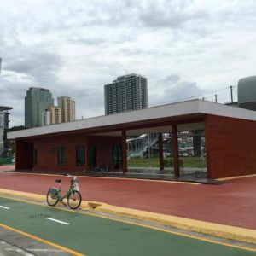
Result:
<instances>
[{"instance_id":1,"label":"dark building cut off by left photo edge, beside the flat roof's tip","mask_svg":"<svg viewBox=\"0 0 256 256\"><path fill-rule=\"evenodd\" d=\"M7 131L9 128L9 112L11 107L0 106L0 156L7 156L8 143Z\"/></svg>"}]
</instances>

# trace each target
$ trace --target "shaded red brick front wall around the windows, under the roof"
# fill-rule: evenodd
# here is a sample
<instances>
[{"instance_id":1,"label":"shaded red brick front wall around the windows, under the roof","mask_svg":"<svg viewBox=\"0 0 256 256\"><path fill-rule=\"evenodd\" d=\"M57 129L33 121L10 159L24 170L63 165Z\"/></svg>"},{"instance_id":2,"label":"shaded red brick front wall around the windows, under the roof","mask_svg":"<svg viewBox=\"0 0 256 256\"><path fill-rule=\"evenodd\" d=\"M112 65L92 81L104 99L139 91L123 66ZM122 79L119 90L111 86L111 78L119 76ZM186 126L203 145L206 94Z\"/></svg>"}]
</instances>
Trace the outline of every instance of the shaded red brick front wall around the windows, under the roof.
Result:
<instances>
[{"instance_id":1,"label":"shaded red brick front wall around the windows, under the roof","mask_svg":"<svg viewBox=\"0 0 256 256\"><path fill-rule=\"evenodd\" d=\"M34 139L34 148L38 151L36 171L63 171L63 172L83 172L85 166L76 166L76 146L86 146L86 136L84 134L42 137ZM97 167L103 165L113 166L112 146L121 144L121 137L88 137L88 145L96 146ZM58 165L57 148L66 148L66 164Z\"/></svg>"}]
</instances>

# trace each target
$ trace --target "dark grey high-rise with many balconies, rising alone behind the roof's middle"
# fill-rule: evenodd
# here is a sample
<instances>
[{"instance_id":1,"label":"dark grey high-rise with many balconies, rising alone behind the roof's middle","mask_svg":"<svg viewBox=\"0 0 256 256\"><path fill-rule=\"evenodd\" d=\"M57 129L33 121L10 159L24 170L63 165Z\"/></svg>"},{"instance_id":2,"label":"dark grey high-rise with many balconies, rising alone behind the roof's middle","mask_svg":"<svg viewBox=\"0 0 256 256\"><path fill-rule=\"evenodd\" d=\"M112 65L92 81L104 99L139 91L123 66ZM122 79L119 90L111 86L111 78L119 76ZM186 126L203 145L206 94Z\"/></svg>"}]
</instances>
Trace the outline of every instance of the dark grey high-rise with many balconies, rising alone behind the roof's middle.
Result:
<instances>
[{"instance_id":1,"label":"dark grey high-rise with many balconies, rising alone behind the roof's middle","mask_svg":"<svg viewBox=\"0 0 256 256\"><path fill-rule=\"evenodd\" d=\"M148 82L131 73L104 86L105 114L148 108Z\"/></svg>"}]
</instances>

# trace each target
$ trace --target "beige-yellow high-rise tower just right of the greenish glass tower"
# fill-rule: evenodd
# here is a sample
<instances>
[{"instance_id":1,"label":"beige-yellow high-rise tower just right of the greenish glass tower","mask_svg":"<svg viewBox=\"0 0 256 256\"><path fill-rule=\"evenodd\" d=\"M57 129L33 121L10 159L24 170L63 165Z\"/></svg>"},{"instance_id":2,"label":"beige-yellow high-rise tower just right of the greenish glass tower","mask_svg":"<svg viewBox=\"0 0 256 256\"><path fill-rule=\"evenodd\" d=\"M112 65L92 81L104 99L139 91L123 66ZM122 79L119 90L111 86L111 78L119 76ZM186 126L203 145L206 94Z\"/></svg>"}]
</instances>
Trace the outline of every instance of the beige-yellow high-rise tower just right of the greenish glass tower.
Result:
<instances>
[{"instance_id":1,"label":"beige-yellow high-rise tower just right of the greenish glass tower","mask_svg":"<svg viewBox=\"0 0 256 256\"><path fill-rule=\"evenodd\" d=\"M61 108L61 123L73 122L76 119L75 101L70 97L58 97L58 107Z\"/></svg>"}]
</instances>

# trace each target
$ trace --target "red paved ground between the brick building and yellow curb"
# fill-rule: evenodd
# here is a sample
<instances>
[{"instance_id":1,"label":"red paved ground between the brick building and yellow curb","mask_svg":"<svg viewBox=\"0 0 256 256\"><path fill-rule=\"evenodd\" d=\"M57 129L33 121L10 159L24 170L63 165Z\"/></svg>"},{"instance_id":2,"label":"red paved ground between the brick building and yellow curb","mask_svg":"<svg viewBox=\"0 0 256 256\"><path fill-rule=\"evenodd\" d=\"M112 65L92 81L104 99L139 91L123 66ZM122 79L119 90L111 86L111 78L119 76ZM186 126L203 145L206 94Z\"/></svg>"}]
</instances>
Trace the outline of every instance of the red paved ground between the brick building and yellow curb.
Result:
<instances>
[{"instance_id":1,"label":"red paved ground between the brick building and yellow curb","mask_svg":"<svg viewBox=\"0 0 256 256\"><path fill-rule=\"evenodd\" d=\"M0 188L45 195L54 176L0 172ZM66 189L68 177L61 177ZM131 179L80 177L85 201L256 229L256 177L222 185L190 185Z\"/></svg>"}]
</instances>

